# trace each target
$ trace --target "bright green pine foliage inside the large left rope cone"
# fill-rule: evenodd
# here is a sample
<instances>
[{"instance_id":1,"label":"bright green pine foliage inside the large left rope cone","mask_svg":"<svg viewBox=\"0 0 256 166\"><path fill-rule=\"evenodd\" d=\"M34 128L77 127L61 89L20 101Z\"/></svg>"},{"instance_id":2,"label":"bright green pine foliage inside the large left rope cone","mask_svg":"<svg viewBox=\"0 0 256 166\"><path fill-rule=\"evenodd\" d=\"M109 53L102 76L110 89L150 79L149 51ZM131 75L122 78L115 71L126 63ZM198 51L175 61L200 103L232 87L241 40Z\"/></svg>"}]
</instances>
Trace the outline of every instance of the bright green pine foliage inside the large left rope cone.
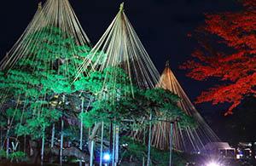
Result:
<instances>
[{"instance_id":1,"label":"bright green pine foliage inside the large left rope cone","mask_svg":"<svg viewBox=\"0 0 256 166\"><path fill-rule=\"evenodd\" d=\"M6 117L15 116L15 134L37 139L61 115L73 116L67 110L80 109L74 104L80 103L80 96L74 95L79 89L72 83L90 48L78 45L55 26L34 32L24 44L27 49L22 59L8 72L0 72L0 93L7 99L1 117L7 121Z\"/></svg>"}]
</instances>

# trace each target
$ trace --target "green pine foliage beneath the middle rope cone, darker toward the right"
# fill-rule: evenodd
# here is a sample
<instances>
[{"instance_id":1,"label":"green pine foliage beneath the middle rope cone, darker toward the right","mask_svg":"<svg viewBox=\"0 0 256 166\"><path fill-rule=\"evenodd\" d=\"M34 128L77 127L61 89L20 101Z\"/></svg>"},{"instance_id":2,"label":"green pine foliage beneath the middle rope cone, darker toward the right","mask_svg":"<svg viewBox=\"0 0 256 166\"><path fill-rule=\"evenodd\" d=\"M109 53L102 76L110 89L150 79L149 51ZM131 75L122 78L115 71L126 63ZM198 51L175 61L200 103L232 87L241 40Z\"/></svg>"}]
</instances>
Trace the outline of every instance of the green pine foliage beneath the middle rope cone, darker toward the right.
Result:
<instances>
[{"instance_id":1,"label":"green pine foliage beneath the middle rope cone, darker toward the right","mask_svg":"<svg viewBox=\"0 0 256 166\"><path fill-rule=\"evenodd\" d=\"M114 75L113 75L114 73ZM186 115L178 106L179 97L167 89L140 90L132 83L130 77L119 67L107 67L103 72L93 72L90 77L84 77L75 86L86 88L95 94L90 112L83 112L83 122L86 127L97 122L121 123L124 119L149 117L154 119L172 117L178 120L181 127L195 125L192 117Z\"/></svg>"}]
</instances>

